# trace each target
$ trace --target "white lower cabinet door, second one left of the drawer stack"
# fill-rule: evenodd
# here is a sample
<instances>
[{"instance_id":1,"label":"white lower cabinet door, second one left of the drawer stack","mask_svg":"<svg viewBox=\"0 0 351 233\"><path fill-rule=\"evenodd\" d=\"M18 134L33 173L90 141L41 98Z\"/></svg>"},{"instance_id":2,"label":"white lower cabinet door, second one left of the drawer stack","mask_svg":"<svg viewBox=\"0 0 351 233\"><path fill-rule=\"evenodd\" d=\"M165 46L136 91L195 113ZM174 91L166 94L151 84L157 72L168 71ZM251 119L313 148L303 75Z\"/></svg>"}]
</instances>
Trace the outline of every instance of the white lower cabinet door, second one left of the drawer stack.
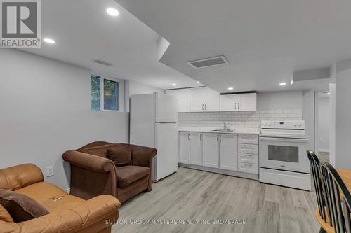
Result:
<instances>
[{"instance_id":1,"label":"white lower cabinet door, second one left of the drawer stack","mask_svg":"<svg viewBox=\"0 0 351 233\"><path fill-rule=\"evenodd\" d=\"M205 167L219 168L219 135L203 134L202 159Z\"/></svg>"}]
</instances>

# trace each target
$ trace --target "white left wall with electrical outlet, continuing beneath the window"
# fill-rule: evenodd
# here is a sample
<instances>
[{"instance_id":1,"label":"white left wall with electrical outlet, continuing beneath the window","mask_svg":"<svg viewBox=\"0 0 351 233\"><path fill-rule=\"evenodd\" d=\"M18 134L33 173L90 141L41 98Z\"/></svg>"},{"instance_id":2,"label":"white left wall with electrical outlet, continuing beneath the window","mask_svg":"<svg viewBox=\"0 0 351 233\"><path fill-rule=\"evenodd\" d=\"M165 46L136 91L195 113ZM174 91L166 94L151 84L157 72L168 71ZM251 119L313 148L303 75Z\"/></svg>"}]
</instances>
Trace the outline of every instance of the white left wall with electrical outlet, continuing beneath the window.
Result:
<instances>
[{"instance_id":1,"label":"white left wall with electrical outlet, continuing beneath the window","mask_svg":"<svg viewBox=\"0 0 351 233\"><path fill-rule=\"evenodd\" d=\"M128 142L128 113L91 111L91 71L18 50L0 52L0 167L31 162L69 187L65 150Z\"/></svg>"}]
</instances>

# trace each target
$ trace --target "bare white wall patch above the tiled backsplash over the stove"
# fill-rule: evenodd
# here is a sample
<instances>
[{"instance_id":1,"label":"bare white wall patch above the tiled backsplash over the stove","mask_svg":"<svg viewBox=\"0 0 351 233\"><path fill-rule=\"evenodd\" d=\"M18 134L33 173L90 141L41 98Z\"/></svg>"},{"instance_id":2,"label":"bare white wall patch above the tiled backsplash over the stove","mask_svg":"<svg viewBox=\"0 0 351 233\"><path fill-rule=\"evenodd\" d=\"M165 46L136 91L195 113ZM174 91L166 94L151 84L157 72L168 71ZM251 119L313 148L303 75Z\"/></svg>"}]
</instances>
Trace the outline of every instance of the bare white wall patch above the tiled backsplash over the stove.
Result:
<instances>
[{"instance_id":1,"label":"bare white wall patch above the tiled backsplash over the stove","mask_svg":"<svg viewBox=\"0 0 351 233\"><path fill-rule=\"evenodd\" d=\"M303 92L259 92L258 93L258 110L277 110L277 109L302 109Z\"/></svg>"}]
</instances>

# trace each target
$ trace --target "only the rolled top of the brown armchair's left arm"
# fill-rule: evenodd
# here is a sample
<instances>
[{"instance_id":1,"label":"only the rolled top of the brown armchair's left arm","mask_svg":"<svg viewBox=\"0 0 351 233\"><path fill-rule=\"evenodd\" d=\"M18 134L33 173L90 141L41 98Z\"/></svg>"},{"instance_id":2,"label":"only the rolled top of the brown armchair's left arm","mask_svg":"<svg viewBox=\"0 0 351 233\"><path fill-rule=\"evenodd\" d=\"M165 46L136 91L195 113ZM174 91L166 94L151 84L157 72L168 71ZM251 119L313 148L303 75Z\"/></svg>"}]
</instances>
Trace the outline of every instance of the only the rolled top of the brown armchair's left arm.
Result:
<instances>
[{"instance_id":1,"label":"only the rolled top of the brown armchair's left arm","mask_svg":"<svg viewBox=\"0 0 351 233\"><path fill-rule=\"evenodd\" d=\"M68 150L63 153L63 160L70 164L102 173L115 171L114 163L111 160L75 150Z\"/></svg>"}]
</instances>

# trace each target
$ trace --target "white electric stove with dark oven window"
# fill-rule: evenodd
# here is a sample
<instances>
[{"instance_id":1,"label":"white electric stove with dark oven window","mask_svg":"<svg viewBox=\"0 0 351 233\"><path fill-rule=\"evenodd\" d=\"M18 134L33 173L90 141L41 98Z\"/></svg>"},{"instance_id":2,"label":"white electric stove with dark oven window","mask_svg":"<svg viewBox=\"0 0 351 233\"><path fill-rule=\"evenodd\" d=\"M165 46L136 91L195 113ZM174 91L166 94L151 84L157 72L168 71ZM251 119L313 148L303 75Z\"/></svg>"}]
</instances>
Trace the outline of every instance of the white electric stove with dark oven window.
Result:
<instances>
[{"instance_id":1,"label":"white electric stove with dark oven window","mask_svg":"<svg viewBox=\"0 0 351 233\"><path fill-rule=\"evenodd\" d=\"M260 182L311 190L309 137L303 120L261 122Z\"/></svg>"}]
</instances>

